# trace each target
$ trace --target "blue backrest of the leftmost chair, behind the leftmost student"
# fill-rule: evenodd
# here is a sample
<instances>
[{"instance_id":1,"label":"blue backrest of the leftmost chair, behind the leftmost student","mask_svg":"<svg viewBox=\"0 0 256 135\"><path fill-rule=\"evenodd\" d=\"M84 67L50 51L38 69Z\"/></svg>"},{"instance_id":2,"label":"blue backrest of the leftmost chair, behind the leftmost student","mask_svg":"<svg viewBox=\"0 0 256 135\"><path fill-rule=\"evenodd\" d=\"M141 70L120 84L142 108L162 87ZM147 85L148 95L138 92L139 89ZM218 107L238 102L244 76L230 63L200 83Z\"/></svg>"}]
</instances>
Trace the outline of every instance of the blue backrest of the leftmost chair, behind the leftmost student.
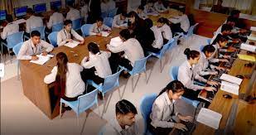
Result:
<instances>
[{"instance_id":1,"label":"blue backrest of the leftmost chair, behind the leftmost student","mask_svg":"<svg viewBox=\"0 0 256 135\"><path fill-rule=\"evenodd\" d=\"M18 43L22 42L23 41L23 35L24 35L24 31L18 31L16 33L8 35L7 36L7 47L8 48L13 48Z\"/></svg>"}]
</instances>

